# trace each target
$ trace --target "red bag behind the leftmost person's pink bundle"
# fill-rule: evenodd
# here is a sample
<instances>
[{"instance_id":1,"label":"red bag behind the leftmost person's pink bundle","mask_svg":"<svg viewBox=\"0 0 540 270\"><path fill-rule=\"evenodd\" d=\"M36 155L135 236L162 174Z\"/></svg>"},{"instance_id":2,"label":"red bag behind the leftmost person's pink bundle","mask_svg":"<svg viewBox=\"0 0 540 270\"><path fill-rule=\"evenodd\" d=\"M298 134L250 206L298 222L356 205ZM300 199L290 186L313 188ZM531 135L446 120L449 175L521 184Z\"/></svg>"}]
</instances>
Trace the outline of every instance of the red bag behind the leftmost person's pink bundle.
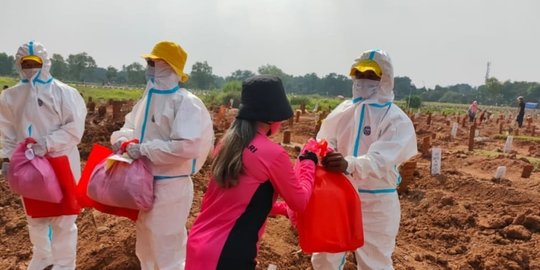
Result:
<instances>
[{"instance_id":1,"label":"red bag behind the leftmost person's pink bundle","mask_svg":"<svg viewBox=\"0 0 540 270\"><path fill-rule=\"evenodd\" d=\"M61 156L47 157L47 160L58 178L63 194L62 201L60 203L51 203L23 197L26 214L33 218L78 215L81 212L81 207L77 202L75 178L71 172L69 159L66 156Z\"/></svg>"}]
</instances>

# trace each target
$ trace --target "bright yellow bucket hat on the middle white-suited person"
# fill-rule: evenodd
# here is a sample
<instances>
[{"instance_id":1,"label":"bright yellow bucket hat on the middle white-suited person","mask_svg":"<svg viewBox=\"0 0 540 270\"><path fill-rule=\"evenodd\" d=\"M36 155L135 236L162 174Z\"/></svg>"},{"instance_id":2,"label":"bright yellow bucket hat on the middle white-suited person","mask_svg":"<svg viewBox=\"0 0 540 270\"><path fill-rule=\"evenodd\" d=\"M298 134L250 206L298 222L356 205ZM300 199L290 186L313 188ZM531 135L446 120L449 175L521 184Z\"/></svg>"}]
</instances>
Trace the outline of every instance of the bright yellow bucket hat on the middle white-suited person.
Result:
<instances>
[{"instance_id":1,"label":"bright yellow bucket hat on the middle white-suited person","mask_svg":"<svg viewBox=\"0 0 540 270\"><path fill-rule=\"evenodd\" d=\"M189 76L184 73L187 53L180 45L172 41L158 42L151 53L143 54L142 57L152 60L162 59L172 67L174 72L180 77L181 82L186 82L189 79Z\"/></svg>"}]
</instances>

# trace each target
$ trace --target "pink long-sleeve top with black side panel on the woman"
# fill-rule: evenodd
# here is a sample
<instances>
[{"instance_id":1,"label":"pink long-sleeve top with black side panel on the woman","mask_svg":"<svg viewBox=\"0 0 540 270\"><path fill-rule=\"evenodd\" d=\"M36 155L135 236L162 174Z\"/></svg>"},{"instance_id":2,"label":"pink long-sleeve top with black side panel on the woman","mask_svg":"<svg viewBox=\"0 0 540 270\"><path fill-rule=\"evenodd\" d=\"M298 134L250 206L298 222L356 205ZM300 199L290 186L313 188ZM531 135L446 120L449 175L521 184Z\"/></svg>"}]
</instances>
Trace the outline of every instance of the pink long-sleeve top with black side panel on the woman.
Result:
<instances>
[{"instance_id":1,"label":"pink long-sleeve top with black side panel on the woman","mask_svg":"<svg viewBox=\"0 0 540 270\"><path fill-rule=\"evenodd\" d=\"M257 242L278 194L303 211L313 190L315 164L289 155L259 131L244 149L238 184L221 188L211 178L187 242L186 270L254 269Z\"/></svg>"}]
</instances>

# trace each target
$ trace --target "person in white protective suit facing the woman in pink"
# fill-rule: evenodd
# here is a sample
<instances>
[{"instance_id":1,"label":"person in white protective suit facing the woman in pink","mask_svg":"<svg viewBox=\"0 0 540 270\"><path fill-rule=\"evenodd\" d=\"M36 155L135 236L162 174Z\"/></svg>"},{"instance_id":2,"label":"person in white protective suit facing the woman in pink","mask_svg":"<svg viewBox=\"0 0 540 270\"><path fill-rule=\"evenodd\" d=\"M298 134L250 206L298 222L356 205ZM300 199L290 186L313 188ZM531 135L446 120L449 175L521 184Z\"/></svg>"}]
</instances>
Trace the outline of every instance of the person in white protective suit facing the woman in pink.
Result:
<instances>
[{"instance_id":1,"label":"person in white protective suit facing the woman in pink","mask_svg":"<svg viewBox=\"0 0 540 270\"><path fill-rule=\"evenodd\" d=\"M355 251L358 269L393 269L399 229L398 166L417 153L409 117L395 104L394 74L388 54L364 52L352 65L353 99L322 122L317 139L336 152L323 166L347 175L362 203L364 246ZM315 253L315 270L343 269L346 253Z\"/></svg>"}]
</instances>

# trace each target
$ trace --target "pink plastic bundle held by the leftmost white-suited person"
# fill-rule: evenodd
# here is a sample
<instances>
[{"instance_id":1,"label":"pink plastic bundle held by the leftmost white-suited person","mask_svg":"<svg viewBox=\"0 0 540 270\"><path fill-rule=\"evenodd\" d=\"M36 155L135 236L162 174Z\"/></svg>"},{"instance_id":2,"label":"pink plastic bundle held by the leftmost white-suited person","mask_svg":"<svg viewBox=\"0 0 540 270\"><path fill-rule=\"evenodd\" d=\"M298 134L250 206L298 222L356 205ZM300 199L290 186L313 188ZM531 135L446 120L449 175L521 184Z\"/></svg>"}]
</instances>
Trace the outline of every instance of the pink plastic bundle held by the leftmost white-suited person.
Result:
<instances>
[{"instance_id":1,"label":"pink plastic bundle held by the leftmost white-suited person","mask_svg":"<svg viewBox=\"0 0 540 270\"><path fill-rule=\"evenodd\" d=\"M26 138L15 148L7 175L9 187L25 198L59 203L63 197L62 189L51 164L47 158L35 156L27 148L35 142L33 138Z\"/></svg>"}]
</instances>

